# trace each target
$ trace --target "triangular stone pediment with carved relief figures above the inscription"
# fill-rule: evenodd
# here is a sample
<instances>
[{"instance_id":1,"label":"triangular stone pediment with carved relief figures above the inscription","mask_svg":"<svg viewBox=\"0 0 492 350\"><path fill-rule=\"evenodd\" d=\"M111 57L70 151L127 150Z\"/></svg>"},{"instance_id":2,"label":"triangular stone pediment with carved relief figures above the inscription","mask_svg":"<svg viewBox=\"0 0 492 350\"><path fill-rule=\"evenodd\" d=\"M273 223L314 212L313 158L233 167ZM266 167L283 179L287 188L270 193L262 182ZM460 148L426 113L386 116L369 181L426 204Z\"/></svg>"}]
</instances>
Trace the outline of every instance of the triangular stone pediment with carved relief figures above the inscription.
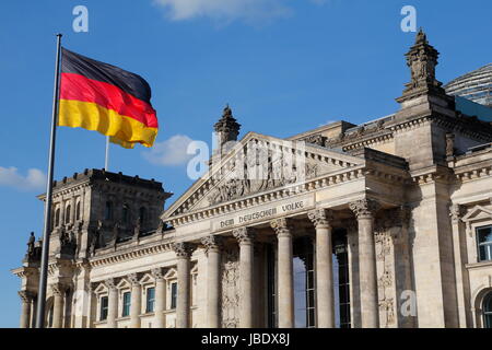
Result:
<instances>
[{"instance_id":1,"label":"triangular stone pediment with carved relief figures above the inscription","mask_svg":"<svg viewBox=\"0 0 492 350\"><path fill-rule=\"evenodd\" d=\"M268 192L354 167L363 159L341 151L249 132L163 214L172 217Z\"/></svg>"}]
</instances>

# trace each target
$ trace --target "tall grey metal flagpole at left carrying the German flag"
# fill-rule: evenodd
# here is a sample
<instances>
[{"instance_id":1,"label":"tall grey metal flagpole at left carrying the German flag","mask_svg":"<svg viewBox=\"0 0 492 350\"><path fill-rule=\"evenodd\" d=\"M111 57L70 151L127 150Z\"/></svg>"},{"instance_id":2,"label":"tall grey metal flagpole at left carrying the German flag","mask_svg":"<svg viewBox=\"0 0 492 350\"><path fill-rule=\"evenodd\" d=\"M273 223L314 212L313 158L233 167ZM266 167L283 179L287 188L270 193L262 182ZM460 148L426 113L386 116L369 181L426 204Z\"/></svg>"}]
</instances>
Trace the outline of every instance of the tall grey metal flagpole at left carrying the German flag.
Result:
<instances>
[{"instance_id":1,"label":"tall grey metal flagpole at left carrying the German flag","mask_svg":"<svg viewBox=\"0 0 492 350\"><path fill-rule=\"evenodd\" d=\"M55 63L55 88L52 94L51 136L49 140L48 184L46 185L45 226L40 259L39 289L37 293L36 328L45 327L46 284L48 281L49 234L51 229L52 178L55 167L55 140L57 135L58 97L60 85L61 36L57 34L57 58Z\"/></svg>"}]
</instances>

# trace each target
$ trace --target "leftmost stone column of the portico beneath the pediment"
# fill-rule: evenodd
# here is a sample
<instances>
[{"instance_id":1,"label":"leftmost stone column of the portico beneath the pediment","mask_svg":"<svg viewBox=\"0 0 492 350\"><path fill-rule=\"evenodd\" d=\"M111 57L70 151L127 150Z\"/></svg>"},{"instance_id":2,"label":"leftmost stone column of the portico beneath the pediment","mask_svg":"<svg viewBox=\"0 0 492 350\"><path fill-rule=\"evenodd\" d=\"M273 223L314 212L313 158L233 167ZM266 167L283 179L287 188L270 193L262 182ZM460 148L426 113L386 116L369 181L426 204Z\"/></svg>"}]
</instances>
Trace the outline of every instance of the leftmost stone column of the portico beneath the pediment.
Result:
<instances>
[{"instance_id":1,"label":"leftmost stone column of the portico beneath the pediment","mask_svg":"<svg viewBox=\"0 0 492 350\"><path fill-rule=\"evenodd\" d=\"M176 328L189 328L190 324L190 257L194 250L189 243L173 244L177 257L177 305Z\"/></svg>"}]
</instances>

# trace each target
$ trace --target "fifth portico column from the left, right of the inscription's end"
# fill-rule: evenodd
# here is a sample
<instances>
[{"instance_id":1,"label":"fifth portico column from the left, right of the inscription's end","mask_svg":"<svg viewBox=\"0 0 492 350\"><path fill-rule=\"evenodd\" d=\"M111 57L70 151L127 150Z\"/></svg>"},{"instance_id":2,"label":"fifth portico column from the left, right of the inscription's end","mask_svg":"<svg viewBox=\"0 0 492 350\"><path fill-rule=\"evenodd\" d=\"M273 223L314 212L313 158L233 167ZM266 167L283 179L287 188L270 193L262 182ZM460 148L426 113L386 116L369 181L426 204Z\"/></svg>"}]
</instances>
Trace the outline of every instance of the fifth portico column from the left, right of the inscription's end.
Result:
<instances>
[{"instance_id":1,"label":"fifth portico column from the left, right of the inscription's end","mask_svg":"<svg viewBox=\"0 0 492 350\"><path fill-rule=\"evenodd\" d=\"M318 328L335 328L332 212L316 209L308 212L316 229L316 314Z\"/></svg>"}]
</instances>

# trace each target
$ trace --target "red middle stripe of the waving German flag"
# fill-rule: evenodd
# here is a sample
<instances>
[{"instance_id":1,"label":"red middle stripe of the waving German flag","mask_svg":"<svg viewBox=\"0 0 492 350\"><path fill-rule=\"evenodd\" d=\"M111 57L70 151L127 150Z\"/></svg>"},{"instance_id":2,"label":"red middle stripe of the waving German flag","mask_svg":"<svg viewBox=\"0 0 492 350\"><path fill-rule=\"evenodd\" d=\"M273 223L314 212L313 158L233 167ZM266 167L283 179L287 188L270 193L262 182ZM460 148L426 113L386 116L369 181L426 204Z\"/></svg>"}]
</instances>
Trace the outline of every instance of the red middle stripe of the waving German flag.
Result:
<instances>
[{"instance_id":1,"label":"red middle stripe of the waving German flag","mask_svg":"<svg viewBox=\"0 0 492 350\"><path fill-rule=\"evenodd\" d=\"M154 108L121 89L75 73L61 73L60 100L96 103L119 115L133 118L149 128L157 128Z\"/></svg>"}]
</instances>

